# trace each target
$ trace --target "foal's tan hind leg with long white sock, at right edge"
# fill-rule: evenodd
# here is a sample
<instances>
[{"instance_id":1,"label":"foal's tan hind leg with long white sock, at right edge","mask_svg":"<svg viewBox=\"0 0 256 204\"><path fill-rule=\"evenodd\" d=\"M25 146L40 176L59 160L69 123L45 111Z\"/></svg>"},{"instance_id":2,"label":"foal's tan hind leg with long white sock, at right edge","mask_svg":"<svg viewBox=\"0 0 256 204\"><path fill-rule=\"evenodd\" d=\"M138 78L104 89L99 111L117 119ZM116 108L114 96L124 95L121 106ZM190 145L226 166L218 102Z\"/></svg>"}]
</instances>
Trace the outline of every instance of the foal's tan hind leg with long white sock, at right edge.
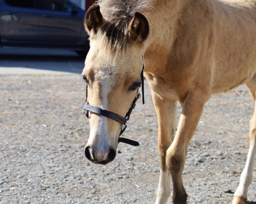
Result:
<instances>
[{"instance_id":1,"label":"foal's tan hind leg with long white sock, at right edge","mask_svg":"<svg viewBox=\"0 0 256 204\"><path fill-rule=\"evenodd\" d=\"M250 94L255 101L256 96L256 80L255 77L247 82L247 87L250 90ZM247 154L246 163L244 170L240 176L239 186L234 193L234 198L232 204L246 204L247 200L247 190L249 185L253 180L253 165L256 156L256 104L254 108L253 117L250 120L250 148Z\"/></svg>"}]
</instances>

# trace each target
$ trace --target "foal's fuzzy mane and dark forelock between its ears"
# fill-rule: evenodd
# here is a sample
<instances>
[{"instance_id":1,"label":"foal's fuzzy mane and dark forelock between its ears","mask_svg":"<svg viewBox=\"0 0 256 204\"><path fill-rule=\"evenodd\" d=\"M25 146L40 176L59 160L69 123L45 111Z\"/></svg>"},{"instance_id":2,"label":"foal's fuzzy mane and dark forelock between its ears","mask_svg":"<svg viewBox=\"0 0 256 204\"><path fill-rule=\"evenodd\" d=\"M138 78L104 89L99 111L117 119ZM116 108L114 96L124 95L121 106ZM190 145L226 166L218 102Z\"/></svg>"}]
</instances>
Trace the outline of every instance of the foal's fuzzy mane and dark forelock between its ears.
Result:
<instances>
[{"instance_id":1,"label":"foal's fuzzy mane and dark forelock between its ears","mask_svg":"<svg viewBox=\"0 0 256 204\"><path fill-rule=\"evenodd\" d=\"M154 8L154 0L99 0L96 3L105 19L98 36L105 36L111 47L122 50L130 42L129 23L134 13L147 15Z\"/></svg>"}]
</instances>

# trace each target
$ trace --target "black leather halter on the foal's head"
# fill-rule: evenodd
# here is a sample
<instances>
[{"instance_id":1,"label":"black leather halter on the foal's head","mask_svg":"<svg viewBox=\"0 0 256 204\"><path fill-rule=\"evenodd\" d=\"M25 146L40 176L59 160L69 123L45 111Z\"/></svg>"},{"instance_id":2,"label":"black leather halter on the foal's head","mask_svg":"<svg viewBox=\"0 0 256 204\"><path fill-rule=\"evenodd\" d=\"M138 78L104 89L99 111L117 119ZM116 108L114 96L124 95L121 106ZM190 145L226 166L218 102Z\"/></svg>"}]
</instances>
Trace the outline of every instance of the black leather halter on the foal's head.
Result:
<instances>
[{"instance_id":1,"label":"black leather halter on the foal's head","mask_svg":"<svg viewBox=\"0 0 256 204\"><path fill-rule=\"evenodd\" d=\"M142 101L143 101L143 104L144 104L145 103L145 101L144 101L144 77L143 77L143 70L145 69L144 55L142 56L142 59L143 59L143 68L142 68L142 71L141 71L141 74L140 74L140 80L141 80L141 89L142 89ZM111 119L113 119L117 122L120 122L122 124L122 129L119 133L118 142L131 144L133 146L139 146L140 145L139 142L136 142L136 141L131 140L131 139L120 137L122 135L122 133L125 131L126 127L127 127L126 122L130 119L131 112L135 108L137 100L140 98L139 88L138 88L138 94L134 98L134 100L131 104L131 107L129 108L125 117L119 116L118 114L113 113L111 111L103 110L102 108L98 108L98 107L95 107L93 105L90 105L89 102L87 101L87 95L88 95L88 89L87 89L87 85L86 85L86 100L85 100L85 105L84 105L84 114L86 114L87 118L89 117L89 111L90 111L90 112L93 112L93 113L111 118Z\"/></svg>"}]
</instances>

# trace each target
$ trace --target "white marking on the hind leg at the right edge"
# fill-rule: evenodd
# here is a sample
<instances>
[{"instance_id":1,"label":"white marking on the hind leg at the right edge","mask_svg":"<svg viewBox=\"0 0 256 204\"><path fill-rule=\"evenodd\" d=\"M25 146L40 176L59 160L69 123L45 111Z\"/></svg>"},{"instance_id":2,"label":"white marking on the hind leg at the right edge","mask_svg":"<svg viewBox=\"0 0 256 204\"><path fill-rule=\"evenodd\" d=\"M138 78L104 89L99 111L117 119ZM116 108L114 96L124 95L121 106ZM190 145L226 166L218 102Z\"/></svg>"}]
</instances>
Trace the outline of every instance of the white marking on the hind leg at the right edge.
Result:
<instances>
[{"instance_id":1,"label":"white marking on the hind leg at the right edge","mask_svg":"<svg viewBox=\"0 0 256 204\"><path fill-rule=\"evenodd\" d=\"M253 142L253 145L250 147L244 170L240 176L240 183L234 196L240 196L242 198L247 198L247 190L251 182L253 181L253 165L256 155L256 141Z\"/></svg>"}]
</instances>

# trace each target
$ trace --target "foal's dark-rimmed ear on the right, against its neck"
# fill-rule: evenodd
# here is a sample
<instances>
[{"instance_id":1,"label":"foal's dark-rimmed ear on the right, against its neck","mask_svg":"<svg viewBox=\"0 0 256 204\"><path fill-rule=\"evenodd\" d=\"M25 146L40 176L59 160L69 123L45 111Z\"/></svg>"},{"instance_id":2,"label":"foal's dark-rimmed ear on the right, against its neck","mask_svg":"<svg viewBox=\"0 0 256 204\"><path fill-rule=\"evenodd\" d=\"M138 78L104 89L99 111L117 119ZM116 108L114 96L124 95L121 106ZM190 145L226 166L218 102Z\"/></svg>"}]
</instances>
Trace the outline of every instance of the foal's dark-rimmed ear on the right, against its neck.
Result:
<instances>
[{"instance_id":1,"label":"foal's dark-rimmed ear on the right, against its neck","mask_svg":"<svg viewBox=\"0 0 256 204\"><path fill-rule=\"evenodd\" d=\"M135 12L131 20L129 31L131 39L137 42L143 42L148 37L149 25L147 18L140 12Z\"/></svg>"}]
</instances>

